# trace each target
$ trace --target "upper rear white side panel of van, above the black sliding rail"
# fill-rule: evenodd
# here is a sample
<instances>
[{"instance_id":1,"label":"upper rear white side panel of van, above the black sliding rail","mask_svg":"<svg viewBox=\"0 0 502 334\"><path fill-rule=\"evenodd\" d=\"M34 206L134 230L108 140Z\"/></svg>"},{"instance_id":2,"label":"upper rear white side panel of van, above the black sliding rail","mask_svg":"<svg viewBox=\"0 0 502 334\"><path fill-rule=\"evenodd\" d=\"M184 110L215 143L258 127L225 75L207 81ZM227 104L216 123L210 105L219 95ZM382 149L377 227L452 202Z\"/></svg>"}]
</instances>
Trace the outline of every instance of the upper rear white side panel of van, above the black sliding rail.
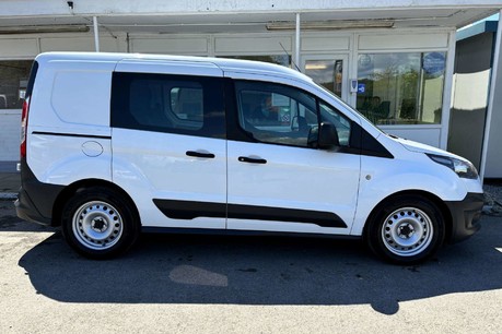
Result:
<instances>
[{"instance_id":1,"label":"upper rear white side panel of van, above the black sliding rail","mask_svg":"<svg viewBox=\"0 0 502 334\"><path fill-rule=\"evenodd\" d=\"M116 62L42 62L30 108L30 127L107 132L112 72ZM87 127L92 126L92 127Z\"/></svg>"}]
</instances>

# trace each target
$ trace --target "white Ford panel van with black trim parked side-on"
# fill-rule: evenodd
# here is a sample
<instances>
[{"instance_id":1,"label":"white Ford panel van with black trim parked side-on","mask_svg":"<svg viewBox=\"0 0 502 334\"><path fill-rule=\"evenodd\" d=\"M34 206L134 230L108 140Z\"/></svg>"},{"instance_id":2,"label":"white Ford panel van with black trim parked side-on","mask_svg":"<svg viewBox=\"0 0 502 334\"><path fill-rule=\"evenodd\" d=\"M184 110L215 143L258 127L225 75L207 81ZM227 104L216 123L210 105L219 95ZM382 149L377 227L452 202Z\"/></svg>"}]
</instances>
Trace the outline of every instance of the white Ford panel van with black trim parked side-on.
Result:
<instances>
[{"instance_id":1,"label":"white Ford panel van with black trim parked side-on","mask_svg":"<svg viewBox=\"0 0 502 334\"><path fill-rule=\"evenodd\" d=\"M90 258L166 230L363 238L413 263L479 229L468 160L381 132L279 65L43 53L22 129L17 215Z\"/></svg>"}]
</instances>

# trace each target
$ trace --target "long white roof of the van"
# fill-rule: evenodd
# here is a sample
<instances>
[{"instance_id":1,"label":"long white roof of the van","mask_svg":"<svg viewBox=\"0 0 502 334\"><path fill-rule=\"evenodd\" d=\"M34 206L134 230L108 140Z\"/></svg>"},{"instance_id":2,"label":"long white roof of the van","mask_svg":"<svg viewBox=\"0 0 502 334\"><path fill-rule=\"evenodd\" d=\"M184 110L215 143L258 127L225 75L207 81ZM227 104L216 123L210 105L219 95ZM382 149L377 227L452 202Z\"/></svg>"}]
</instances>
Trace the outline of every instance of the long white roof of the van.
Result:
<instances>
[{"instance_id":1,"label":"long white roof of the van","mask_svg":"<svg viewBox=\"0 0 502 334\"><path fill-rule=\"evenodd\" d=\"M254 72L267 73L269 75L288 76L291 79L310 81L312 79L301 72L289 68L253 60L240 60L227 58L192 57L192 56L167 56L167 55L147 55L147 53L118 53L118 52L45 52L35 58L38 62L50 60L92 60L92 61L113 61L121 60L157 60L157 61L186 61L203 62L219 67L225 72Z\"/></svg>"}]
</instances>

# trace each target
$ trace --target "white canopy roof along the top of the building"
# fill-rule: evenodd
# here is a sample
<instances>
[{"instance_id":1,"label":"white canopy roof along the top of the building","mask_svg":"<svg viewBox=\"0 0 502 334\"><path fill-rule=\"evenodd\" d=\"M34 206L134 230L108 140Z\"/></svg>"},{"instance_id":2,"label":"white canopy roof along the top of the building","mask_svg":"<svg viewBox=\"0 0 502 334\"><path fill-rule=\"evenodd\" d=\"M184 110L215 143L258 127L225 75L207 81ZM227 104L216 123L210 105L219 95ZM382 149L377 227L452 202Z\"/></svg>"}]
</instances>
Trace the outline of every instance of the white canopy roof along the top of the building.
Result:
<instances>
[{"instance_id":1,"label":"white canopy roof along the top of the building","mask_svg":"<svg viewBox=\"0 0 502 334\"><path fill-rule=\"evenodd\" d=\"M90 29L110 33L260 33L294 29L459 28L498 13L502 1L4 1L0 34Z\"/></svg>"}]
</instances>

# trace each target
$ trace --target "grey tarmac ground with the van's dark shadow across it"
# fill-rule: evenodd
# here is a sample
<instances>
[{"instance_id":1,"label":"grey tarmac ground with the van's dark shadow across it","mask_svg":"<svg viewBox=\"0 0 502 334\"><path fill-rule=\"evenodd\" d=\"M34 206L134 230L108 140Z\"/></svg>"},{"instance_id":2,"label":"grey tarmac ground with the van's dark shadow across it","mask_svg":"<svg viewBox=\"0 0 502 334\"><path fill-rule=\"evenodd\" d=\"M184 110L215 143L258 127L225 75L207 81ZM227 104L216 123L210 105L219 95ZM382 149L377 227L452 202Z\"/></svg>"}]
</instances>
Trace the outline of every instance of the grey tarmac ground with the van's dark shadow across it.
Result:
<instances>
[{"instance_id":1,"label":"grey tarmac ground with the van's dark shadow across it","mask_svg":"<svg viewBox=\"0 0 502 334\"><path fill-rule=\"evenodd\" d=\"M0 333L501 333L502 218L419 266L359 242L142 236L91 261L0 201Z\"/></svg>"}]
</instances>

